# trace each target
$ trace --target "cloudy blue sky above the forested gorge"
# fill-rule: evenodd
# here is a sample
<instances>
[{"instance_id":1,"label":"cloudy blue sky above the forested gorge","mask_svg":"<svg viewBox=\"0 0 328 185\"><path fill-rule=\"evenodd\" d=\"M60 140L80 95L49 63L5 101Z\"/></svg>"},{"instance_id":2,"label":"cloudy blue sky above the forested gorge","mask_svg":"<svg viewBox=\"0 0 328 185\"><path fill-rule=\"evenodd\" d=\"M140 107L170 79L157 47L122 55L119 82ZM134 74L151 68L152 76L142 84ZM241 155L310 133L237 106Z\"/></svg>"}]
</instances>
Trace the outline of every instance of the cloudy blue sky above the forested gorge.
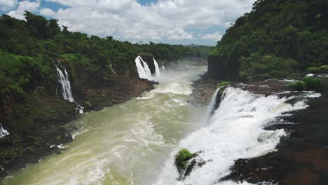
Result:
<instances>
[{"instance_id":1,"label":"cloudy blue sky above the forested gorge","mask_svg":"<svg viewBox=\"0 0 328 185\"><path fill-rule=\"evenodd\" d=\"M24 11L58 20L71 32L132 43L214 46L255 0L0 0L0 14Z\"/></svg>"}]
</instances>

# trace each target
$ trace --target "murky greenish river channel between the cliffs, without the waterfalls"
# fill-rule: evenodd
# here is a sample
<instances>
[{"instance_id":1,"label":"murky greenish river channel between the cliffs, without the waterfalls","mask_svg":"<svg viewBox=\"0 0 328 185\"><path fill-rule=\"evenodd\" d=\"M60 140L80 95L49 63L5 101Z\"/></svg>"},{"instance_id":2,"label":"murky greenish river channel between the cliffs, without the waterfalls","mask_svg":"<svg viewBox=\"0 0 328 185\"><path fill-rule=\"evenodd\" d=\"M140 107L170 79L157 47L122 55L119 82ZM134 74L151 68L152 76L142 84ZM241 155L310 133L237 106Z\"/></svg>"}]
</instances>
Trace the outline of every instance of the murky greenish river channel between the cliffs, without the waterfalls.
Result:
<instances>
[{"instance_id":1,"label":"murky greenish river channel between the cliffs, without the waterfalls","mask_svg":"<svg viewBox=\"0 0 328 185\"><path fill-rule=\"evenodd\" d=\"M179 140L203 127L207 109L193 107L191 83L203 67L162 71L142 97L74 121L74 141L61 154L11 173L9 184L153 184Z\"/></svg>"}]
</instances>

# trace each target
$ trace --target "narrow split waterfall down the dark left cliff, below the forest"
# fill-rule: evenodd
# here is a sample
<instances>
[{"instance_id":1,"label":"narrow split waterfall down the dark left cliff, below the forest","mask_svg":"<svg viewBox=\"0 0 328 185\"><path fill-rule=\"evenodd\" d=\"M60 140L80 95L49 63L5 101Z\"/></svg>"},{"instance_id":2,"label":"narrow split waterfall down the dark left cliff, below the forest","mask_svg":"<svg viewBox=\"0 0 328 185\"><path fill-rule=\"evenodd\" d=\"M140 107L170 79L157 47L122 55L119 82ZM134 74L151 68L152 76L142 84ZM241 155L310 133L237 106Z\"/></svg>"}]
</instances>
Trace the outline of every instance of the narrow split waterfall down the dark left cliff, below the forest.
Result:
<instances>
[{"instance_id":1,"label":"narrow split waterfall down the dark left cliff, below the forest","mask_svg":"<svg viewBox=\"0 0 328 185\"><path fill-rule=\"evenodd\" d=\"M73 95L71 94L71 83L69 83L69 75L65 67L62 66L62 68L64 69L64 73L62 73L62 71L56 65L58 80L62 85L62 96L64 97L64 100L74 102Z\"/></svg>"}]
</instances>

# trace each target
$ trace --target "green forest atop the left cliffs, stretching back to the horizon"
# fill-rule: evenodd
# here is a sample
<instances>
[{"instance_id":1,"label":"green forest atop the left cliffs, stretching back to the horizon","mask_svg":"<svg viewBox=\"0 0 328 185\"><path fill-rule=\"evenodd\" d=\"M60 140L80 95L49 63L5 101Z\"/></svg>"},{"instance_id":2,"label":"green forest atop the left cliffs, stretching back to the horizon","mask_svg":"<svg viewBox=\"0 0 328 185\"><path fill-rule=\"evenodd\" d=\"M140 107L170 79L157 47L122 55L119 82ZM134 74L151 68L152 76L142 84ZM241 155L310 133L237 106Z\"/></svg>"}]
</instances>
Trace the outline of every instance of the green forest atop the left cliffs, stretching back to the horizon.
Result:
<instances>
[{"instance_id":1,"label":"green forest atop the left cliffs, stretching back to the horizon","mask_svg":"<svg viewBox=\"0 0 328 185\"><path fill-rule=\"evenodd\" d=\"M54 59L80 67L102 78L117 74L135 75L135 57L153 55L157 60L207 57L210 46L185 47L163 43L132 44L112 36L100 38L69 32L57 20L25 12L25 20L0 17L0 96L21 97L38 86L56 81ZM37 80L36 80L37 79Z\"/></svg>"}]
</instances>

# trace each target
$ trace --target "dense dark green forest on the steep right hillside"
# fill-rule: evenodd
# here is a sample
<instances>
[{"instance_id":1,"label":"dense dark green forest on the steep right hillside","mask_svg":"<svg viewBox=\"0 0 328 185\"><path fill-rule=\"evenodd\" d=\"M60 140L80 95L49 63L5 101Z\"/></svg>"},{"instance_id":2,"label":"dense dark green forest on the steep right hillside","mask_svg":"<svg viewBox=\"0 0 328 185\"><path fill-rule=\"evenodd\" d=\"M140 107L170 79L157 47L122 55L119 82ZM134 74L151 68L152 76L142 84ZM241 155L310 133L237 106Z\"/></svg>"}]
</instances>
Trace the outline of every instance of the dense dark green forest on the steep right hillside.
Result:
<instances>
[{"instance_id":1,"label":"dense dark green forest on the steep right hillside","mask_svg":"<svg viewBox=\"0 0 328 185\"><path fill-rule=\"evenodd\" d=\"M210 55L241 81L328 71L328 1L258 0Z\"/></svg>"}]
</instances>

